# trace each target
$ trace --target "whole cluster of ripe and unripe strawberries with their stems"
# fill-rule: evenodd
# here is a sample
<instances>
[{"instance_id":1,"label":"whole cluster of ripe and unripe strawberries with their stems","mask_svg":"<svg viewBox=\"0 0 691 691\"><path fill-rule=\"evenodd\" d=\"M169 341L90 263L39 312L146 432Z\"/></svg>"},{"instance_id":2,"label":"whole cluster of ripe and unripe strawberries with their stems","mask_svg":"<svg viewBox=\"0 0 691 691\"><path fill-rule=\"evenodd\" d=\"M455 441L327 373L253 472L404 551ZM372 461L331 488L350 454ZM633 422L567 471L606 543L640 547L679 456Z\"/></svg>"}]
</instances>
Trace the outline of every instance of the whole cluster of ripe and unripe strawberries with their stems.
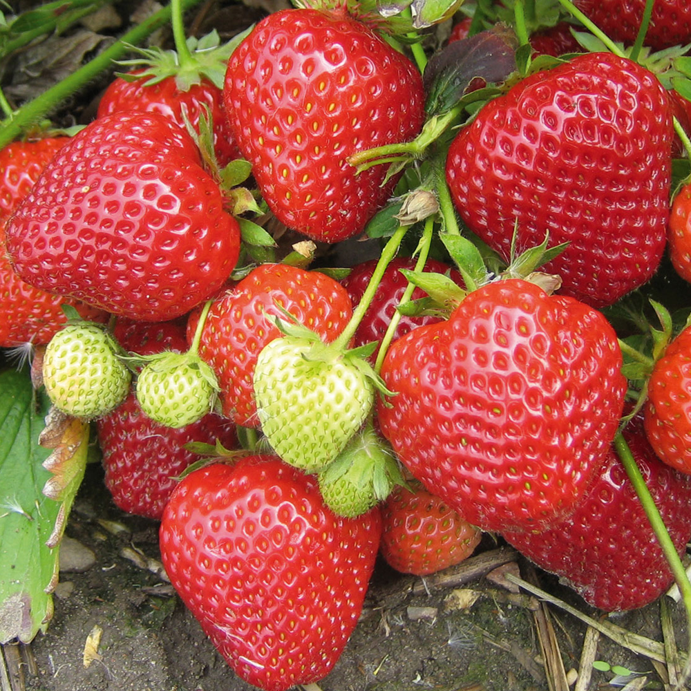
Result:
<instances>
[{"instance_id":1,"label":"whole cluster of ripe and unripe strawberries with their stems","mask_svg":"<svg viewBox=\"0 0 691 691\"><path fill-rule=\"evenodd\" d=\"M681 554L691 327L653 289L691 277L691 10L641 51L613 4L514 33L478 3L429 60L364 4L281 10L0 151L0 345L94 421L249 683L328 674L380 549L424 575L496 533L608 612L672 583L647 515ZM310 268L362 234L378 258Z\"/></svg>"}]
</instances>

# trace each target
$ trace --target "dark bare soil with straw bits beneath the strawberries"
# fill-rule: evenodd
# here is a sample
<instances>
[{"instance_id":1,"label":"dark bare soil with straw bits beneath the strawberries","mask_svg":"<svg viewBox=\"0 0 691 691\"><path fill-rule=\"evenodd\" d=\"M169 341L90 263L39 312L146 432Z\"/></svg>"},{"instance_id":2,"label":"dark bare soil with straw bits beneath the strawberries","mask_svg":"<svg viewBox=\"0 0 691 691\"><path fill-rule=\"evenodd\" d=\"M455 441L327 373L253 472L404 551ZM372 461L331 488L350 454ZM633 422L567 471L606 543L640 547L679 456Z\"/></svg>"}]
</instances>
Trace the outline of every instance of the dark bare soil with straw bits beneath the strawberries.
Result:
<instances>
[{"instance_id":1,"label":"dark bare soil with straw bits beneath the strawberries","mask_svg":"<svg viewBox=\"0 0 691 691\"><path fill-rule=\"evenodd\" d=\"M17 674L35 691L249 691L216 653L200 626L164 580L157 545L158 523L122 513L106 491L98 464L88 468L67 535L86 548L81 572L61 573L55 616L30 647L6 646L8 667L23 656ZM363 616L341 659L319 686L323 691L542 691L550 686L540 649L540 605L484 576L509 548L486 536L476 556L435 578L396 574L383 562L372 578ZM509 566L517 565L509 553ZM515 555L513 555L515 556ZM507 561L504 558L503 561ZM469 565L469 566L468 566ZM475 566L473 566L475 565ZM531 577L521 563L522 576ZM464 570L463 570L464 569ZM467 573L470 572L470 576ZM464 575L466 574L466 575ZM596 618L576 594L547 574L540 586ZM468 580L469 578L469 580ZM683 608L670 598L676 638L686 634ZM548 615L557 659L576 678L586 625L556 607ZM536 618L536 614L538 618ZM661 641L660 603L612 619L632 632ZM84 650L100 627L95 656ZM545 631L544 621L541 630ZM645 688L665 688L649 659L600 637L596 659L645 672ZM571 671L569 671L571 670ZM1 671L1 665L0 665ZM614 672L594 670L582 689L614 688ZM663 672L664 674L664 672ZM0 675L1 676L1 675ZM21 688L19 679L15 686ZM583 683L585 679L581 679ZM615 681L617 681L615 679ZM640 677L638 683L643 681ZM565 683L565 682L564 682ZM623 683L619 684L620 686ZM3 691L6 688L2 686ZM571 688L574 688L573 686ZM643 688L636 686L635 688ZM666 688L671 688L667 686Z\"/></svg>"}]
</instances>

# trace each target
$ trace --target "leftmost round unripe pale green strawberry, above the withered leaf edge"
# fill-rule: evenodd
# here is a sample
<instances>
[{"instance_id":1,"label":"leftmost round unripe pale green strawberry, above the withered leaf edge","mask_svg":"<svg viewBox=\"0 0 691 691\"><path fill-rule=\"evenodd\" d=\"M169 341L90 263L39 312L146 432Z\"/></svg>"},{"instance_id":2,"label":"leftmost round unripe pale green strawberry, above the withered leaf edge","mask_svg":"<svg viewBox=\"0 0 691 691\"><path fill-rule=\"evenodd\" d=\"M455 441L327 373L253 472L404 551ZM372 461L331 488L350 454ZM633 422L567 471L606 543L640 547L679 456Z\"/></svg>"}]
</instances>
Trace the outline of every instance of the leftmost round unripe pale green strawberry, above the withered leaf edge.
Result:
<instances>
[{"instance_id":1,"label":"leftmost round unripe pale green strawberry, above the withered leaf edge","mask_svg":"<svg viewBox=\"0 0 691 691\"><path fill-rule=\"evenodd\" d=\"M46 392L59 410L75 417L109 413L127 395L131 375L117 345L100 326L69 324L50 339L43 361Z\"/></svg>"}]
</instances>

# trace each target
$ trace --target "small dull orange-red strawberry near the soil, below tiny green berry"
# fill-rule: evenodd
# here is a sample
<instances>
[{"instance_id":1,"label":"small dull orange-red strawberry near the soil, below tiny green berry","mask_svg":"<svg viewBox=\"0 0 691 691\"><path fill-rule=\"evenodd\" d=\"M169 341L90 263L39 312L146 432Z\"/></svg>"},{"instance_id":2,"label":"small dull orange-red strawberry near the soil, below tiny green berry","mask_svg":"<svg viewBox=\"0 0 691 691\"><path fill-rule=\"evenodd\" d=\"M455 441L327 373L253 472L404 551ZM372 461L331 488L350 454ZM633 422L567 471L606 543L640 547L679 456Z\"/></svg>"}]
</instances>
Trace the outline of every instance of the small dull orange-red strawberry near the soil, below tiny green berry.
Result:
<instances>
[{"instance_id":1,"label":"small dull orange-red strawberry near the soil, below tiny green berry","mask_svg":"<svg viewBox=\"0 0 691 691\"><path fill-rule=\"evenodd\" d=\"M381 555L403 574L428 576L471 556L482 533L419 482L397 486L381 508Z\"/></svg>"}]
</instances>

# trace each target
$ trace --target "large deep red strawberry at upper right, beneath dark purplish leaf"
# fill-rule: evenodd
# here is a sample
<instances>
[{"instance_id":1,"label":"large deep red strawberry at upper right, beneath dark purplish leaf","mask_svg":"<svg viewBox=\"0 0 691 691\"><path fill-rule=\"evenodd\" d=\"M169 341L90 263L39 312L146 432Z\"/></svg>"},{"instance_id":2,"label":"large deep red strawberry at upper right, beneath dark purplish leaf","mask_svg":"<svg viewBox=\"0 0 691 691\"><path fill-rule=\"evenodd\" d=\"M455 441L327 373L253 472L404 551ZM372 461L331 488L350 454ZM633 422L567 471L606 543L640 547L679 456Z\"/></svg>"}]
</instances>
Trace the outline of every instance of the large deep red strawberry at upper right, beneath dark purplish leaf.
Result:
<instances>
[{"instance_id":1,"label":"large deep red strawberry at upper right, beneath dark purplish leaf","mask_svg":"<svg viewBox=\"0 0 691 691\"><path fill-rule=\"evenodd\" d=\"M609 53L541 72L486 104L448 152L455 205L509 258L569 246L542 270L561 292L614 303L654 274L669 216L672 128L656 77Z\"/></svg>"}]
</instances>

